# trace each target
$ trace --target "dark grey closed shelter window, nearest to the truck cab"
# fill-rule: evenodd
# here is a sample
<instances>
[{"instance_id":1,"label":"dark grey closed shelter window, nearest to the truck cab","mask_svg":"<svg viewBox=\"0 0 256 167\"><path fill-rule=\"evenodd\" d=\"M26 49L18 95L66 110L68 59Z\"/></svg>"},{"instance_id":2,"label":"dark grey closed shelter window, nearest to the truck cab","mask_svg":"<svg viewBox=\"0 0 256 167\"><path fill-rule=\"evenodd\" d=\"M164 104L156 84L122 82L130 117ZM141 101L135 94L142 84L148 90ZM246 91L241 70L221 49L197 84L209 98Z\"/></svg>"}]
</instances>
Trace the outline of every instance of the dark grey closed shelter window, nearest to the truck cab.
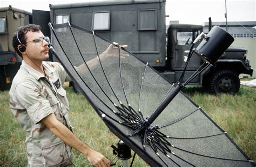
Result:
<instances>
[{"instance_id":1,"label":"dark grey closed shelter window, nearest to the truck cab","mask_svg":"<svg viewBox=\"0 0 256 167\"><path fill-rule=\"evenodd\" d=\"M138 30L157 30L157 10L147 9L138 11Z\"/></svg>"}]
</instances>

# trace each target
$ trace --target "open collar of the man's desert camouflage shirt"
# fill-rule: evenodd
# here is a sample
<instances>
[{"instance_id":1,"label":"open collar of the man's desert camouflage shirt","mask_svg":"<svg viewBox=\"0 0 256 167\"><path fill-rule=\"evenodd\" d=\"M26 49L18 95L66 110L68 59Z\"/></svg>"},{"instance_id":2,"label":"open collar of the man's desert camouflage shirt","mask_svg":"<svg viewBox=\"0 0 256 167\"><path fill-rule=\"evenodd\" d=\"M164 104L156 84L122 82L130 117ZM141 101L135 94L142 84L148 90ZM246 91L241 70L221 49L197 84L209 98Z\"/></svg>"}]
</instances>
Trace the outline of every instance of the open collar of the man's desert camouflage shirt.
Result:
<instances>
[{"instance_id":1,"label":"open collar of the man's desert camouflage shirt","mask_svg":"<svg viewBox=\"0 0 256 167\"><path fill-rule=\"evenodd\" d=\"M50 62L43 61L43 67L44 67L45 74L48 76L56 70L51 66ZM21 68L24 68L26 71L29 72L30 75L35 77L37 80L45 77L41 72L29 66L29 64L26 63L24 60L22 61Z\"/></svg>"}]
</instances>

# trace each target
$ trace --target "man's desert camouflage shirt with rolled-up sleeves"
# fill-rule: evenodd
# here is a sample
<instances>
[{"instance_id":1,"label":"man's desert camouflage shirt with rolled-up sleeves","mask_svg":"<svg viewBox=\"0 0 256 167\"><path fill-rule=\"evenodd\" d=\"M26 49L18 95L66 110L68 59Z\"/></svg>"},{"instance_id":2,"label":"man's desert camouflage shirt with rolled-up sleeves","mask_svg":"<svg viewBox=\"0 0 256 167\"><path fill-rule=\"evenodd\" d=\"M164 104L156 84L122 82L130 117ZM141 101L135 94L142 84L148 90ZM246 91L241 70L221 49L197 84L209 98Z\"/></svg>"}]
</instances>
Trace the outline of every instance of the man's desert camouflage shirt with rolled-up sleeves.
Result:
<instances>
[{"instance_id":1,"label":"man's desert camouflage shirt with rolled-up sleeves","mask_svg":"<svg viewBox=\"0 0 256 167\"><path fill-rule=\"evenodd\" d=\"M25 61L22 62L9 92L10 108L26 132L28 166L66 165L72 158L71 148L41 120L54 113L60 122L70 128L69 102L62 88L70 78L59 63L43 62L43 66L49 81Z\"/></svg>"}]
</instances>

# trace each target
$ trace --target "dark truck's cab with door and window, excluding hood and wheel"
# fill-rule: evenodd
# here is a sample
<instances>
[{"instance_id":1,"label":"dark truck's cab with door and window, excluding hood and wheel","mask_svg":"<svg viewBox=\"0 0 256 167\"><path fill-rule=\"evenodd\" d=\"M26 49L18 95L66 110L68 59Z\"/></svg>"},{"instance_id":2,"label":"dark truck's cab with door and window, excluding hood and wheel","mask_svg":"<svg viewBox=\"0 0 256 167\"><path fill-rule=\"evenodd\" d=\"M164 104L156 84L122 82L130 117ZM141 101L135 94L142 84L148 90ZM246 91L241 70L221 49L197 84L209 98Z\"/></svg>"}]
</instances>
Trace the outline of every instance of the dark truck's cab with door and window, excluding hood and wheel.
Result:
<instances>
[{"instance_id":1,"label":"dark truck's cab with door and window, excluding hood and wheel","mask_svg":"<svg viewBox=\"0 0 256 167\"><path fill-rule=\"evenodd\" d=\"M203 26L172 24L167 30L167 70L166 75L172 82L177 82L186 63L186 57L190 52L192 42L203 32ZM197 44L198 45L198 44ZM196 46L197 46L196 45ZM202 60L196 54L191 57L184 76L184 81L193 74L202 64ZM199 76L191 81L191 84L199 85Z\"/></svg>"}]
</instances>

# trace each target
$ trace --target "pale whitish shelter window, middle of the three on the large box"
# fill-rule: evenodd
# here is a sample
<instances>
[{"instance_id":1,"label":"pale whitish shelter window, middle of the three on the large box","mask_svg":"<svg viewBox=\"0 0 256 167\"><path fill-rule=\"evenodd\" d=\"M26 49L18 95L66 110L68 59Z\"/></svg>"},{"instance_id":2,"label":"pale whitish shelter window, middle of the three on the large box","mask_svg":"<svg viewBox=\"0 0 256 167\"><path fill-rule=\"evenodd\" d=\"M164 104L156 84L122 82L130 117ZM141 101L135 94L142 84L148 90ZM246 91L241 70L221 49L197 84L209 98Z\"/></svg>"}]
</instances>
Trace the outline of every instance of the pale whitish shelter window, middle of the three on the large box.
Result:
<instances>
[{"instance_id":1,"label":"pale whitish shelter window, middle of the three on the large box","mask_svg":"<svg viewBox=\"0 0 256 167\"><path fill-rule=\"evenodd\" d=\"M93 12L92 30L110 30L110 11Z\"/></svg>"}]
</instances>

